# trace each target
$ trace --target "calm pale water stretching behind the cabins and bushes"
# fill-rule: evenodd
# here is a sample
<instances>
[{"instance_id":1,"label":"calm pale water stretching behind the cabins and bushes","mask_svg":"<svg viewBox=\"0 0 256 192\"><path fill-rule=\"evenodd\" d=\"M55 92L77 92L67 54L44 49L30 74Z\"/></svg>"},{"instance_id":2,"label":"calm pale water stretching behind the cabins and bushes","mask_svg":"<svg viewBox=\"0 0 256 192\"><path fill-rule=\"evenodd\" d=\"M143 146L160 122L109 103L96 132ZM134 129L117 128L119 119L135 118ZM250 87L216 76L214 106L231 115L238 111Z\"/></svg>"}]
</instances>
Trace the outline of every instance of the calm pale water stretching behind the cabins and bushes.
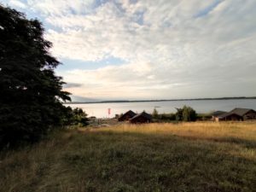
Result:
<instances>
[{"instance_id":1,"label":"calm pale water stretching behind the cabins and bushes","mask_svg":"<svg viewBox=\"0 0 256 192\"><path fill-rule=\"evenodd\" d=\"M141 113L145 110L152 113L154 108L159 113L175 113L175 108L182 108L188 105L195 109L197 113L210 113L215 110L230 111L233 108L253 108L256 110L255 99L241 100L201 100L201 101L172 101L172 102L119 102L119 103L91 103L91 104L68 104L72 108L83 108L89 116L97 118L108 118L108 108L111 108L109 117L114 114L125 113L132 110Z\"/></svg>"}]
</instances>

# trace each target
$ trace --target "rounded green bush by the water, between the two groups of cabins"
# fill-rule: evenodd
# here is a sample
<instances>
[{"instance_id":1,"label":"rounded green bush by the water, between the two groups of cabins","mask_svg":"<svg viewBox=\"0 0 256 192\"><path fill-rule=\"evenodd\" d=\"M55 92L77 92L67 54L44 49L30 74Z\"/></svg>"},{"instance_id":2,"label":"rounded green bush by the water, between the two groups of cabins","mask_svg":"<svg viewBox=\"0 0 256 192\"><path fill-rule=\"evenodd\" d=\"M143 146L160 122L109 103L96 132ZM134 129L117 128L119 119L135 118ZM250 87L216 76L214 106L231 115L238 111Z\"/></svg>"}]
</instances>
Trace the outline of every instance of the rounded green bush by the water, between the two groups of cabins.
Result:
<instances>
[{"instance_id":1,"label":"rounded green bush by the water, between the two groups of cabins","mask_svg":"<svg viewBox=\"0 0 256 192\"><path fill-rule=\"evenodd\" d=\"M183 106L183 108L176 108L176 120L177 121L195 121L197 114L193 108Z\"/></svg>"}]
</instances>

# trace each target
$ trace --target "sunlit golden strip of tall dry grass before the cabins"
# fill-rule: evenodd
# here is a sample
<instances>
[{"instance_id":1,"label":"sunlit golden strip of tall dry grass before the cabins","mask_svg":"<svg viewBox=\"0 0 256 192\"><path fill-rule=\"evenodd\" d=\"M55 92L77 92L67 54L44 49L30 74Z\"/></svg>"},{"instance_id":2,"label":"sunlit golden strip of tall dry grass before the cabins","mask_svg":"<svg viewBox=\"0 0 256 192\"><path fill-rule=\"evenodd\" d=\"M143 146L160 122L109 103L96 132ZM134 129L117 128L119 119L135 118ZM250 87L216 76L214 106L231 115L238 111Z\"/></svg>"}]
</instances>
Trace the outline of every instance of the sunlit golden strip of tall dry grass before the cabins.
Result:
<instances>
[{"instance_id":1,"label":"sunlit golden strip of tall dry grass before the cabins","mask_svg":"<svg viewBox=\"0 0 256 192\"><path fill-rule=\"evenodd\" d=\"M193 123L156 123L123 124L90 131L135 132L142 134L176 135L194 138L234 137L256 140L256 122L193 122Z\"/></svg>"}]
</instances>

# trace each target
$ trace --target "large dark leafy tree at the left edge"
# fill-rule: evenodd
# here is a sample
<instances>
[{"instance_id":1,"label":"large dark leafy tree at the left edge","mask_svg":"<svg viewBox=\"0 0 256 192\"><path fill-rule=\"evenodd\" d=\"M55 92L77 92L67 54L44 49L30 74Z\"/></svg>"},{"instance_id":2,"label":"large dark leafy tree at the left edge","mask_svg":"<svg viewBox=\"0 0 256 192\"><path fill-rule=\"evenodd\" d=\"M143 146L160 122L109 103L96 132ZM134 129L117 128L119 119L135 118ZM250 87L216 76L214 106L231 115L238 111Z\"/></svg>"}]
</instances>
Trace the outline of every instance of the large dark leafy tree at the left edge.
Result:
<instances>
[{"instance_id":1,"label":"large dark leafy tree at the left edge","mask_svg":"<svg viewBox=\"0 0 256 192\"><path fill-rule=\"evenodd\" d=\"M62 124L70 97L50 47L38 20L0 5L0 146L37 141Z\"/></svg>"}]
</instances>

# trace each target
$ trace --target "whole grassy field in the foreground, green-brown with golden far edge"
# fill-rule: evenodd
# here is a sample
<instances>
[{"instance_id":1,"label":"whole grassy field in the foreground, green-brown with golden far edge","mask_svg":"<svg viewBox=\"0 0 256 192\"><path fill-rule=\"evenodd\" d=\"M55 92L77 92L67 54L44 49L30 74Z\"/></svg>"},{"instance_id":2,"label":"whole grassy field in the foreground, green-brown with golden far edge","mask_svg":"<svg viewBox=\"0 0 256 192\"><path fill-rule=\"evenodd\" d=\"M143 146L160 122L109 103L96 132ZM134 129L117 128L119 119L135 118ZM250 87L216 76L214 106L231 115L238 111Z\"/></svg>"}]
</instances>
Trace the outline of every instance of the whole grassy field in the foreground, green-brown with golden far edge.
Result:
<instances>
[{"instance_id":1,"label":"whole grassy field in the foreground, green-brown with golden far edge","mask_svg":"<svg viewBox=\"0 0 256 192\"><path fill-rule=\"evenodd\" d=\"M256 191L256 123L63 131L0 153L0 191Z\"/></svg>"}]
</instances>

